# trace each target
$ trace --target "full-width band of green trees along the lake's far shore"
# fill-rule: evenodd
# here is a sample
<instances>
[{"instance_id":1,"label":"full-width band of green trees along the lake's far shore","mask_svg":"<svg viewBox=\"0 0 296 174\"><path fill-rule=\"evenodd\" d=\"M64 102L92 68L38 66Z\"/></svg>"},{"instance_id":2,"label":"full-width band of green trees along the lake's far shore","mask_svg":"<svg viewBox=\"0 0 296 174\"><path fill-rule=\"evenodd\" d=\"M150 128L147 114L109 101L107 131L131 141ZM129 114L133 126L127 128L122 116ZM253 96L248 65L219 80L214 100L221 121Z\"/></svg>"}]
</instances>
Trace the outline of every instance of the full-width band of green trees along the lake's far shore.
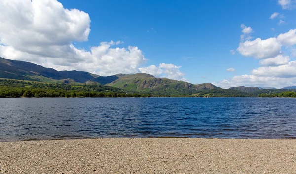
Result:
<instances>
[{"instance_id":1,"label":"full-width band of green trees along the lake's far shore","mask_svg":"<svg viewBox=\"0 0 296 174\"><path fill-rule=\"evenodd\" d=\"M243 92L237 89L211 89L174 93L128 91L101 84L65 84L0 79L0 98L18 97L289 97L296 98L296 89L258 89Z\"/></svg>"}]
</instances>

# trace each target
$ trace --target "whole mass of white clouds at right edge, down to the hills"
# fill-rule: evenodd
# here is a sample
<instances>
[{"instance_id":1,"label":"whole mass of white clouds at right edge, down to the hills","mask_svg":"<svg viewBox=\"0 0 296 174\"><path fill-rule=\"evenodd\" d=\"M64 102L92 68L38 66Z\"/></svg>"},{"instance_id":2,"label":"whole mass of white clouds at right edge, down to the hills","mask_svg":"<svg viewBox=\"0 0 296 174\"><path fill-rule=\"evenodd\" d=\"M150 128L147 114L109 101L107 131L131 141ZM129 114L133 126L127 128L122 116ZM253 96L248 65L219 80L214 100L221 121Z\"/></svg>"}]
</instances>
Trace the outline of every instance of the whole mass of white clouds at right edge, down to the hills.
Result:
<instances>
[{"instance_id":1,"label":"whole mass of white clouds at right edge, down to the hills","mask_svg":"<svg viewBox=\"0 0 296 174\"><path fill-rule=\"evenodd\" d=\"M253 69L251 74L234 76L220 82L214 82L222 88L234 86L277 87L296 85L296 61L290 61L289 56L283 55L281 47L291 50L291 56L295 56L296 29L291 29L280 34L277 38L266 40L257 38L239 44L238 53L243 56L261 59L261 67Z\"/></svg>"}]
</instances>

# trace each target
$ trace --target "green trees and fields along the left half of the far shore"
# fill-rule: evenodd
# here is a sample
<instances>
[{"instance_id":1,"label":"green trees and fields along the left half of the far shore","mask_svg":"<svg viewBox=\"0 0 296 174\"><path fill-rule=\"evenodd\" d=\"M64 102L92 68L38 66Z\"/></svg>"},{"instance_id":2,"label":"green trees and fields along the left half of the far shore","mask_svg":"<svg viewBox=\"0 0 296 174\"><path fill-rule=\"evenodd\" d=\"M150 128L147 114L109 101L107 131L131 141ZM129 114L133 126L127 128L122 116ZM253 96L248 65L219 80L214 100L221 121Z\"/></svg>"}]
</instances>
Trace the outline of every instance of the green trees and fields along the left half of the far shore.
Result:
<instances>
[{"instance_id":1,"label":"green trees and fields along the left half of the far shore","mask_svg":"<svg viewBox=\"0 0 296 174\"><path fill-rule=\"evenodd\" d=\"M68 85L0 79L0 97L150 97L101 84Z\"/></svg>"}]
</instances>

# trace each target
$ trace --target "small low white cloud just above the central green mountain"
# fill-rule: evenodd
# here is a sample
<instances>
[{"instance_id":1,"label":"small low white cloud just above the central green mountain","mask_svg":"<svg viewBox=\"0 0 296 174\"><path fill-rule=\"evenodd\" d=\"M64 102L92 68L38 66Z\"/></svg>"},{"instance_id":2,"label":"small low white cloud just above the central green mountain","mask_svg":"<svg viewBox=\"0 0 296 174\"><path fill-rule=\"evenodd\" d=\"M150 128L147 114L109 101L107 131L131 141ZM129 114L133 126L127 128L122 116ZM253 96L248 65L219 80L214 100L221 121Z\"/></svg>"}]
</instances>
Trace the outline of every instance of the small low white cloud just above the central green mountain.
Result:
<instances>
[{"instance_id":1,"label":"small low white cloud just above the central green mountain","mask_svg":"<svg viewBox=\"0 0 296 174\"><path fill-rule=\"evenodd\" d=\"M179 69L181 66L176 66L174 64L160 63L159 66L150 65L148 67L139 68L142 73L152 74L156 77L166 77L169 79L182 80L188 82L184 76L185 74Z\"/></svg>"}]
</instances>

